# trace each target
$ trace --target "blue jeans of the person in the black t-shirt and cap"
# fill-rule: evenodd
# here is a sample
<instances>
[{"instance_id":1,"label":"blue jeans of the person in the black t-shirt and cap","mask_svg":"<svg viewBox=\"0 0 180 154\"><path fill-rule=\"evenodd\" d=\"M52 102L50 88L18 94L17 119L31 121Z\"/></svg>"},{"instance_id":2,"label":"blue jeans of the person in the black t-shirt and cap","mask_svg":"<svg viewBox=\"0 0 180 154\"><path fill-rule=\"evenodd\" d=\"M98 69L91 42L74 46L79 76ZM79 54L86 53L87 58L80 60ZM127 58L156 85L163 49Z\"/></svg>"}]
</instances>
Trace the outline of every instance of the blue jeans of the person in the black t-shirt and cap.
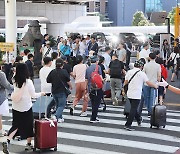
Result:
<instances>
[{"instance_id":1,"label":"blue jeans of the person in the black t-shirt and cap","mask_svg":"<svg viewBox=\"0 0 180 154\"><path fill-rule=\"evenodd\" d=\"M62 113L66 106L67 95L64 92L62 92L58 94L53 94L53 98L56 103L56 118L62 119Z\"/></svg>"}]
</instances>

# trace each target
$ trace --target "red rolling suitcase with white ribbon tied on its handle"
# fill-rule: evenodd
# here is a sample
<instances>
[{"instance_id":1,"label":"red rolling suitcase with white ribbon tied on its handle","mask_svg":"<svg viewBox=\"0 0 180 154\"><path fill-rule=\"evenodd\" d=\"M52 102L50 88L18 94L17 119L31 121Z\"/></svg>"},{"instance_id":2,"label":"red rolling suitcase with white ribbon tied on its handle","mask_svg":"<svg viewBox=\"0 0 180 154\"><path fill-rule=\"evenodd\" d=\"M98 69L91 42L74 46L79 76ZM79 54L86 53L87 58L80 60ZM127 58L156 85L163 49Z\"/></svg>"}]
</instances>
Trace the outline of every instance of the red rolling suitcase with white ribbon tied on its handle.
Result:
<instances>
[{"instance_id":1,"label":"red rolling suitcase with white ribbon tied on its handle","mask_svg":"<svg viewBox=\"0 0 180 154\"><path fill-rule=\"evenodd\" d=\"M39 112L39 120L35 120L34 151L51 148L57 151L57 121L47 118L41 119Z\"/></svg>"}]
</instances>

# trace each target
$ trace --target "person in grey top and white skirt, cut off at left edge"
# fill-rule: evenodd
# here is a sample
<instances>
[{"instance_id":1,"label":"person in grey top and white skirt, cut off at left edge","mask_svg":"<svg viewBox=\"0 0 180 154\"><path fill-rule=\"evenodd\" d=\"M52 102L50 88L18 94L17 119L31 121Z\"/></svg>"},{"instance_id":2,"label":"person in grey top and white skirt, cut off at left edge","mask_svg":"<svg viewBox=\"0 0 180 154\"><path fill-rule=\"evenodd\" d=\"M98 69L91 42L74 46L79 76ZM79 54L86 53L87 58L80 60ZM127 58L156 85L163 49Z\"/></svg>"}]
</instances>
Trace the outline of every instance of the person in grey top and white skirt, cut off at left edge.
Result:
<instances>
[{"instance_id":1,"label":"person in grey top and white skirt, cut off at left edge","mask_svg":"<svg viewBox=\"0 0 180 154\"><path fill-rule=\"evenodd\" d=\"M6 79L5 73L0 70L0 137L6 135L2 128L2 116L9 113L6 90L13 90L13 86Z\"/></svg>"}]
</instances>

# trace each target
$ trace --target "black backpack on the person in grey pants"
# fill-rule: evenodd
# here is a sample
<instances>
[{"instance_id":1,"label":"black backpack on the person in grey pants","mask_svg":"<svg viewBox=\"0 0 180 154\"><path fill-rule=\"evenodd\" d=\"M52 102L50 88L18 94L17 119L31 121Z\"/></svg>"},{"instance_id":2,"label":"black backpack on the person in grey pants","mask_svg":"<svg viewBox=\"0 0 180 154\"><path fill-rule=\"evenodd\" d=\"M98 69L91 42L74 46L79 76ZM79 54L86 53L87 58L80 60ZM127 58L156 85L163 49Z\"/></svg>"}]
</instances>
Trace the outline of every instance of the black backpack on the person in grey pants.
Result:
<instances>
[{"instance_id":1,"label":"black backpack on the person in grey pants","mask_svg":"<svg viewBox=\"0 0 180 154\"><path fill-rule=\"evenodd\" d=\"M111 62L110 65L110 76L111 77L121 77L122 76L122 66L119 60Z\"/></svg>"}]
</instances>

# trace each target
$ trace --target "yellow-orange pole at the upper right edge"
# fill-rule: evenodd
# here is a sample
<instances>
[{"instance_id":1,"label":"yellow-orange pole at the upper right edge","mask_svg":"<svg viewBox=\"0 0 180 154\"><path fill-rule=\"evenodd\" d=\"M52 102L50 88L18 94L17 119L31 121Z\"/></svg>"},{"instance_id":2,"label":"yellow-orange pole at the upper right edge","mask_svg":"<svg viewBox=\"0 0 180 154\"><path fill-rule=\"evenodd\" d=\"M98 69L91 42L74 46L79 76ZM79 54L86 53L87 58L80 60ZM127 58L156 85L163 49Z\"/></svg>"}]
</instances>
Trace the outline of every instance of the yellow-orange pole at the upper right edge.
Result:
<instances>
[{"instance_id":1,"label":"yellow-orange pole at the upper right edge","mask_svg":"<svg viewBox=\"0 0 180 154\"><path fill-rule=\"evenodd\" d=\"M175 38L178 38L178 36L180 35L180 33L179 33L179 25L180 25L180 8L179 8L179 6L177 5L177 7L176 7L176 13L175 13L175 17L174 17L174 29L175 29L175 32L174 32L174 34L175 34Z\"/></svg>"}]
</instances>

